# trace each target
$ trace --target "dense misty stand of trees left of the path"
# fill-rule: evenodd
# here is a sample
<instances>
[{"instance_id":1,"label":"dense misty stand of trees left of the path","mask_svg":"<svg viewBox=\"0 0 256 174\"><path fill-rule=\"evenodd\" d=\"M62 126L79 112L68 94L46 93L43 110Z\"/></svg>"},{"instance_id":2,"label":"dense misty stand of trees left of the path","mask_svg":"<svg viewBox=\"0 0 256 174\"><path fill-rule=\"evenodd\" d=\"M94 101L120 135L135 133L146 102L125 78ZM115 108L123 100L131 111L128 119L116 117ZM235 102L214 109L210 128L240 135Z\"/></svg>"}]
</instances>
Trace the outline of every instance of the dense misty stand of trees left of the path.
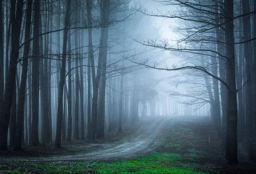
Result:
<instances>
[{"instance_id":1,"label":"dense misty stand of trees left of the path","mask_svg":"<svg viewBox=\"0 0 256 174\"><path fill-rule=\"evenodd\" d=\"M7 145L18 151L51 141L56 148L61 140L95 141L104 138L106 127L122 132L122 124L137 121L145 103L140 92L153 89L143 81L134 87L138 65L121 56L129 51L125 25L134 5L0 2L0 151Z\"/></svg>"}]
</instances>

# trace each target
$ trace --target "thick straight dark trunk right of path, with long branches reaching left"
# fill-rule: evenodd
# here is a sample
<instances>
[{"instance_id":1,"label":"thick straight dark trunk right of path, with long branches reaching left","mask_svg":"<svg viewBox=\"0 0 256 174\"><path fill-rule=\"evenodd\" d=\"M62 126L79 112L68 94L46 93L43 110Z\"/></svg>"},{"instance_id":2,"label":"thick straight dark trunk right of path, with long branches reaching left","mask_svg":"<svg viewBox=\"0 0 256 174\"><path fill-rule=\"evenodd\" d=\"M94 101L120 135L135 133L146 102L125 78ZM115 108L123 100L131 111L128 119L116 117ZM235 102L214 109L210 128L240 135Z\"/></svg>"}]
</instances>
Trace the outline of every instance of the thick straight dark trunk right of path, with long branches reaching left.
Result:
<instances>
[{"instance_id":1,"label":"thick straight dark trunk right of path, with long branches reaching left","mask_svg":"<svg viewBox=\"0 0 256 174\"><path fill-rule=\"evenodd\" d=\"M234 43L233 0L224 0L225 38L227 43ZM227 145L226 159L229 164L237 164L237 103L236 103L236 72L235 46L227 44L228 62L228 102L227 102Z\"/></svg>"}]
</instances>

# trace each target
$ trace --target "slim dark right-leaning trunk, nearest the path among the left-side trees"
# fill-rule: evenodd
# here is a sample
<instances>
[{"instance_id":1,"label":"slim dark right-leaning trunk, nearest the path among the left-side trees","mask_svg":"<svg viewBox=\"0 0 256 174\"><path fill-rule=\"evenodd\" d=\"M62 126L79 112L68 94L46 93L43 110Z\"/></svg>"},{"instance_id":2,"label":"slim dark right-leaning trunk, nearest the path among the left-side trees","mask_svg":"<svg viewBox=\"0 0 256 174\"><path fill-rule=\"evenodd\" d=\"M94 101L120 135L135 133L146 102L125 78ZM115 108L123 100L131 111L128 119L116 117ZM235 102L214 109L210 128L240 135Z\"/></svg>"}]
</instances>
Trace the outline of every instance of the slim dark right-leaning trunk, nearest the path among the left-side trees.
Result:
<instances>
[{"instance_id":1,"label":"slim dark right-leaning trunk, nearest the path among the left-side trees","mask_svg":"<svg viewBox=\"0 0 256 174\"><path fill-rule=\"evenodd\" d=\"M62 50L62 61L61 61L61 78L59 83L59 93L58 93L58 112L57 112L57 125L56 125L56 138L55 138L55 147L61 148L61 123L62 123L62 114L63 114L63 90L65 83L65 70L66 70L66 56L67 56L67 33L68 33L68 24L70 16L70 6L71 0L67 0L67 9L65 14L64 22L64 34L63 34L63 50Z\"/></svg>"}]
</instances>

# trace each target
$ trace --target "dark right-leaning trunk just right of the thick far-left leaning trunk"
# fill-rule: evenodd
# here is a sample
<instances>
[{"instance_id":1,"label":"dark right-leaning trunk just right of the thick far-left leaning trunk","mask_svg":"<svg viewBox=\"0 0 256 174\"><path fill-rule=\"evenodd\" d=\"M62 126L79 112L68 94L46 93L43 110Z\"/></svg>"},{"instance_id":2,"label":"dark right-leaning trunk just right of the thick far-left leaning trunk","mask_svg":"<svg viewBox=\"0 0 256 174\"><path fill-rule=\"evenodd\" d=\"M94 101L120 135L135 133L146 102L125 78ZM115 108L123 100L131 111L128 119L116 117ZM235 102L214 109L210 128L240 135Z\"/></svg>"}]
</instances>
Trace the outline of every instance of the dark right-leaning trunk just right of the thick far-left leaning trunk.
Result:
<instances>
[{"instance_id":1,"label":"dark right-leaning trunk just right of the thick far-left leaning trunk","mask_svg":"<svg viewBox=\"0 0 256 174\"><path fill-rule=\"evenodd\" d=\"M25 42L24 52L23 52L23 64L22 64L22 74L20 80L20 91L18 96L18 105L17 105L17 124L16 124L16 133L15 133L15 144L14 150L21 150L21 138L23 131L23 123L24 123L24 103L25 103L25 95L26 95L26 79L27 79L27 71L28 71L28 59L26 58L29 55L30 42L28 42L30 38L30 30L31 30L31 15L32 15L32 0L27 1L27 9L26 9L26 29L25 29ZM26 109L26 108L25 108ZM27 136L27 134L26 134Z\"/></svg>"}]
</instances>

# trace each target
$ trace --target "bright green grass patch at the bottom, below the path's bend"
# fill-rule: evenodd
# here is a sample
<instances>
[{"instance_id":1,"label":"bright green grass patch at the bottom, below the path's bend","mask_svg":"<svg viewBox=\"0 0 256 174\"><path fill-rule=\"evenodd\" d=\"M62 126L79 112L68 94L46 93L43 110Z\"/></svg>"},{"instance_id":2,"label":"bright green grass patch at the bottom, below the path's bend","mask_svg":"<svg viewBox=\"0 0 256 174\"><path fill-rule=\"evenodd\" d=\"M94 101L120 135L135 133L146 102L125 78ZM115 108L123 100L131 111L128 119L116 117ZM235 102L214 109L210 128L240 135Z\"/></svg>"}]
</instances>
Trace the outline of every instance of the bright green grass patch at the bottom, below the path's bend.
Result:
<instances>
[{"instance_id":1,"label":"bright green grass patch at the bottom, below the path's bend","mask_svg":"<svg viewBox=\"0 0 256 174\"><path fill-rule=\"evenodd\" d=\"M99 174L208 174L191 166L183 167L181 154L154 152L131 161L102 162L93 169Z\"/></svg>"}]
</instances>

